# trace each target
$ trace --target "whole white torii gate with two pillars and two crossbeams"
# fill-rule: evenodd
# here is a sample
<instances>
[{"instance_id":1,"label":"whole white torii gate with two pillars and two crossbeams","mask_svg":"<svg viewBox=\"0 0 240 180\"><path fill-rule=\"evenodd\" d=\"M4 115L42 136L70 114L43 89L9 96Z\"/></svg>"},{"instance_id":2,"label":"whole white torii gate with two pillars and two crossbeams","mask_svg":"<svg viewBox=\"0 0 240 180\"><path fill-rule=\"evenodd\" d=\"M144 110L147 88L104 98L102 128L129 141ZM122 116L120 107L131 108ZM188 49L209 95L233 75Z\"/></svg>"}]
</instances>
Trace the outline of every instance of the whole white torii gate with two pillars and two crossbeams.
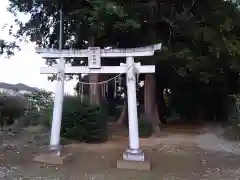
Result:
<instances>
[{"instance_id":1,"label":"whole white torii gate with two pillars and two crossbeams","mask_svg":"<svg viewBox=\"0 0 240 180\"><path fill-rule=\"evenodd\" d=\"M161 49L161 44L132 49L100 49L90 47L84 50L56 50L36 49L36 52L45 59L60 59L57 66L42 67L41 74L57 74L57 87L54 100L53 121L51 129L50 147L60 155L60 129L62 119L62 103L64 96L65 73L102 73L127 74L128 119L129 119L129 148L123 153L124 160L144 161L144 153L139 148L137 97L136 97L136 70L138 73L154 73L154 65L142 66L134 63L134 57L153 56ZM88 66L65 66L65 58L87 57ZM101 66L101 57L126 57L126 64L120 66Z\"/></svg>"}]
</instances>

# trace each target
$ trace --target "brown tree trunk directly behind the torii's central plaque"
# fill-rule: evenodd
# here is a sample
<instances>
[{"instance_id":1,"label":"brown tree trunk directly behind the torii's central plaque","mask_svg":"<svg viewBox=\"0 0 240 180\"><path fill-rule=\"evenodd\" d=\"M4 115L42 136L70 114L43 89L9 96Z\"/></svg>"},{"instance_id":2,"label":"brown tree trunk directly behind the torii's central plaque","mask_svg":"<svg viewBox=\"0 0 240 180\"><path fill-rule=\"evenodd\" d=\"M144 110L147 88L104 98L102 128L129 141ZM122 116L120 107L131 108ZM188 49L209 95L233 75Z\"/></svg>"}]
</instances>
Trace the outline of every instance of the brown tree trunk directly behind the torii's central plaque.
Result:
<instances>
[{"instance_id":1,"label":"brown tree trunk directly behind the torii's central plaque","mask_svg":"<svg viewBox=\"0 0 240 180\"><path fill-rule=\"evenodd\" d=\"M95 38L92 36L89 41L89 47L95 46ZM99 82L99 74L89 74L89 83ZM100 104L100 88L98 84L89 85L89 101L92 104Z\"/></svg>"}]
</instances>

